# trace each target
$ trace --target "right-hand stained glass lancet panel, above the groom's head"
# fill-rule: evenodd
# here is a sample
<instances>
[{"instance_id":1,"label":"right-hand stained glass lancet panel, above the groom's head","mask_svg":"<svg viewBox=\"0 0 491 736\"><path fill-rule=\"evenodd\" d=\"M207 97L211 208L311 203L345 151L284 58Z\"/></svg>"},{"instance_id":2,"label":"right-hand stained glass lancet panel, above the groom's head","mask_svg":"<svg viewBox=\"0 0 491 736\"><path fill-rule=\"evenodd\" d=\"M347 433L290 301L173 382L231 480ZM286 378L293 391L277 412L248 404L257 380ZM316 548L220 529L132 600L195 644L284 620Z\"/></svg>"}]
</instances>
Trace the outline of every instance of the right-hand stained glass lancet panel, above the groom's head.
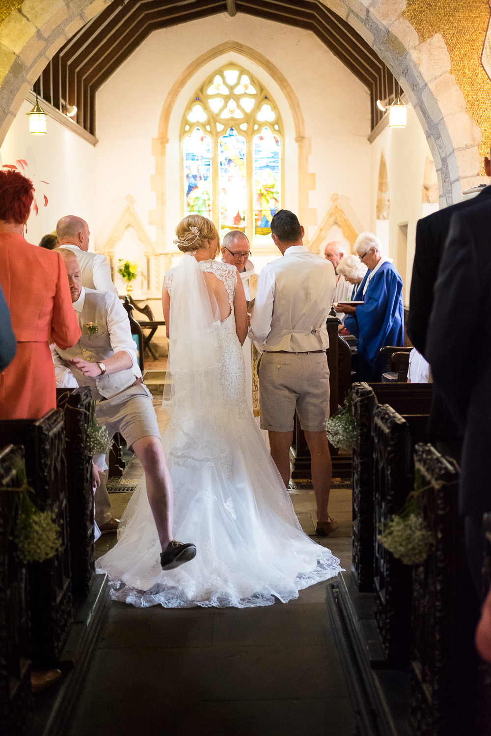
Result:
<instances>
[{"instance_id":1,"label":"right-hand stained glass lancet panel, above the groom's head","mask_svg":"<svg viewBox=\"0 0 491 736\"><path fill-rule=\"evenodd\" d=\"M263 128L252 141L254 153L254 236L263 241L271 230L272 216L280 209L280 139ZM269 241L269 237L266 238Z\"/></svg>"}]
</instances>

